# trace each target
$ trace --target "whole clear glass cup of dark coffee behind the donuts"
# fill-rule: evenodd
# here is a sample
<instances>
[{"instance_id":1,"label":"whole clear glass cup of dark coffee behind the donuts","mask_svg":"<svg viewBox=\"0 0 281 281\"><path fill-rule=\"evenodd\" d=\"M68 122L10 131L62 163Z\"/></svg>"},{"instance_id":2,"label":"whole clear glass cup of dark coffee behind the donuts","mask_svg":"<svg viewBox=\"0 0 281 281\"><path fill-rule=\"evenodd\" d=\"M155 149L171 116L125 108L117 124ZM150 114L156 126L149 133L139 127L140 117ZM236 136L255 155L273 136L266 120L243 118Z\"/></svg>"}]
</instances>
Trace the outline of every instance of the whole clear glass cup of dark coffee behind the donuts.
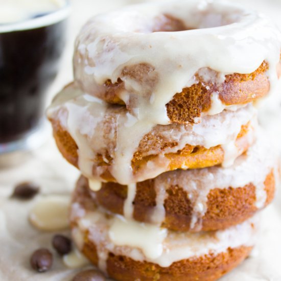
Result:
<instances>
[{"instance_id":1,"label":"whole clear glass cup of dark coffee behind the donuts","mask_svg":"<svg viewBox=\"0 0 281 281\"><path fill-rule=\"evenodd\" d=\"M0 156L42 143L68 14L66 0L0 1Z\"/></svg>"}]
</instances>

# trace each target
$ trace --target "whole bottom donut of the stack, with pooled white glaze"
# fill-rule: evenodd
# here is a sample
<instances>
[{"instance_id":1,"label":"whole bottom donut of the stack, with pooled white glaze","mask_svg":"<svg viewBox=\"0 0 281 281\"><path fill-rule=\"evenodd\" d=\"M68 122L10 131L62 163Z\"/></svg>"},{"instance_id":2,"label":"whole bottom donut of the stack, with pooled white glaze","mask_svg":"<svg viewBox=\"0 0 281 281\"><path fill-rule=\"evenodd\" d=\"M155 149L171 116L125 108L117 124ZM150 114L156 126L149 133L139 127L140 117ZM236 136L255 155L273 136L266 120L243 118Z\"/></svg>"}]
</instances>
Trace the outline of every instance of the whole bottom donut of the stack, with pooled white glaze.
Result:
<instances>
[{"instance_id":1,"label":"whole bottom donut of the stack, with pooled white glaze","mask_svg":"<svg viewBox=\"0 0 281 281\"><path fill-rule=\"evenodd\" d=\"M71 207L73 240L114 280L212 281L249 254L255 220L211 232L175 232L105 213L76 189Z\"/></svg>"}]
</instances>

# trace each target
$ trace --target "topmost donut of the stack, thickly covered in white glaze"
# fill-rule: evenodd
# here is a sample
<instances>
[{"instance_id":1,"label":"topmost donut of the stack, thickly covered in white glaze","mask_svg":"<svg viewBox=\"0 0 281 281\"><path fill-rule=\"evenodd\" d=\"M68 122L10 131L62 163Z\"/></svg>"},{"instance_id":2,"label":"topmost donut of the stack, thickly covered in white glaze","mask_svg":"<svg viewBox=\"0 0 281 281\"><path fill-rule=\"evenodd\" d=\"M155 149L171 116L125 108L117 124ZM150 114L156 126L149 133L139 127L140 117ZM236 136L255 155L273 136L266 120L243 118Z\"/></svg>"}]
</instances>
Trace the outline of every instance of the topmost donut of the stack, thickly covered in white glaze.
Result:
<instances>
[{"instance_id":1,"label":"topmost donut of the stack, thickly covered in white glaze","mask_svg":"<svg viewBox=\"0 0 281 281\"><path fill-rule=\"evenodd\" d=\"M149 3L90 19L76 40L74 76L140 119L197 123L265 96L280 73L280 49L278 29L235 4Z\"/></svg>"}]
</instances>

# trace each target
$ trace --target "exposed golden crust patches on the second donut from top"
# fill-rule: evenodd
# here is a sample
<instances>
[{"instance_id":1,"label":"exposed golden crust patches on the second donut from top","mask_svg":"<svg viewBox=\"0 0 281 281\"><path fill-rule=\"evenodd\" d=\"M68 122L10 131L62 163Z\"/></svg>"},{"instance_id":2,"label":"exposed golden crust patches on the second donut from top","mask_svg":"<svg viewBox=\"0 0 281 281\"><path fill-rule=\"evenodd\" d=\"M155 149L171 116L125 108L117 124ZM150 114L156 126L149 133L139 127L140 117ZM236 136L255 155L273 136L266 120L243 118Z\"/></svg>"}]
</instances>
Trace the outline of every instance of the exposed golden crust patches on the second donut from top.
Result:
<instances>
[{"instance_id":1,"label":"exposed golden crust patches on the second donut from top","mask_svg":"<svg viewBox=\"0 0 281 281\"><path fill-rule=\"evenodd\" d=\"M57 147L63 157L72 165L78 168L78 147L72 136L60 125L58 120L50 120L53 126L53 135L56 140ZM250 124L243 125L236 140L236 146L241 152L245 152L251 145L247 133L250 130ZM131 162L133 174L145 172L146 163L149 160L156 159L158 155L143 156L148 146L153 143L161 142L161 140L154 138L153 134L147 134L142 142L140 142L138 150L134 153ZM172 143L163 143L162 148L173 147ZM224 160L224 151L221 146L211 147L206 149L201 146L186 145L182 150L176 153L165 154L169 159L169 167L167 171L182 169L188 167L189 169L198 169L219 165ZM104 167L105 172L101 175L102 179L106 181L115 181L115 178L109 172L110 162L113 160L109 155L106 155L107 162L104 161L103 155L98 155L96 159L96 167ZM95 167L93 167L93 173Z\"/></svg>"}]
</instances>

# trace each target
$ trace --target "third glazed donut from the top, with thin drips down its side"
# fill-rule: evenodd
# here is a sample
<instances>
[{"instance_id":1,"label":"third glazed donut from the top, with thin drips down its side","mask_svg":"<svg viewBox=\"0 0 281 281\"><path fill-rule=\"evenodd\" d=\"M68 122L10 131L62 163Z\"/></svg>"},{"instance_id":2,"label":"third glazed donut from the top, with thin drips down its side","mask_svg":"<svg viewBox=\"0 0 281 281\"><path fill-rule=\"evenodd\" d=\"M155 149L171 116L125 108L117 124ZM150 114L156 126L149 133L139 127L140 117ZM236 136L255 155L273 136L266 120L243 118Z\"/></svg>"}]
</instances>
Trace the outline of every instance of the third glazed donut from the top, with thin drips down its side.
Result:
<instances>
[{"instance_id":1,"label":"third glazed donut from the top, with thin drips down its side","mask_svg":"<svg viewBox=\"0 0 281 281\"><path fill-rule=\"evenodd\" d=\"M77 189L109 212L127 219L156 223L176 231L210 231L230 227L252 217L269 204L278 177L277 159L261 140L229 168L176 170L155 179L121 185L92 185L80 177ZM88 193L88 195L86 195Z\"/></svg>"}]
</instances>

